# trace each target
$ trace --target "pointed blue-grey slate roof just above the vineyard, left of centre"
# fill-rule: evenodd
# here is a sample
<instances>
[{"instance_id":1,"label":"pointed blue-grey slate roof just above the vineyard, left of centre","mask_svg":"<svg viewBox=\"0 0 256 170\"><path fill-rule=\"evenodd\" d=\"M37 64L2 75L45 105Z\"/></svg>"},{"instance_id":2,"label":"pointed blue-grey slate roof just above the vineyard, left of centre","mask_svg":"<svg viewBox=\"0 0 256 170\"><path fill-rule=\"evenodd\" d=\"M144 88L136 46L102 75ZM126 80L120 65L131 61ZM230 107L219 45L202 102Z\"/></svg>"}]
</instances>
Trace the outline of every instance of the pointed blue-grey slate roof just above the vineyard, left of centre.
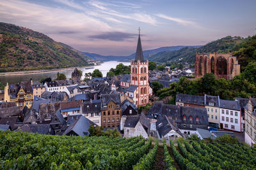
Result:
<instances>
[{"instance_id":1,"label":"pointed blue-grey slate roof just above the vineyard, left of centre","mask_svg":"<svg viewBox=\"0 0 256 170\"><path fill-rule=\"evenodd\" d=\"M63 133L63 135L68 134L71 131L75 132L78 136L89 135L90 132L88 131L88 129L90 125L95 124L93 124L93 122L90 121L88 118L81 116L68 127L68 129Z\"/></svg>"}]
</instances>

